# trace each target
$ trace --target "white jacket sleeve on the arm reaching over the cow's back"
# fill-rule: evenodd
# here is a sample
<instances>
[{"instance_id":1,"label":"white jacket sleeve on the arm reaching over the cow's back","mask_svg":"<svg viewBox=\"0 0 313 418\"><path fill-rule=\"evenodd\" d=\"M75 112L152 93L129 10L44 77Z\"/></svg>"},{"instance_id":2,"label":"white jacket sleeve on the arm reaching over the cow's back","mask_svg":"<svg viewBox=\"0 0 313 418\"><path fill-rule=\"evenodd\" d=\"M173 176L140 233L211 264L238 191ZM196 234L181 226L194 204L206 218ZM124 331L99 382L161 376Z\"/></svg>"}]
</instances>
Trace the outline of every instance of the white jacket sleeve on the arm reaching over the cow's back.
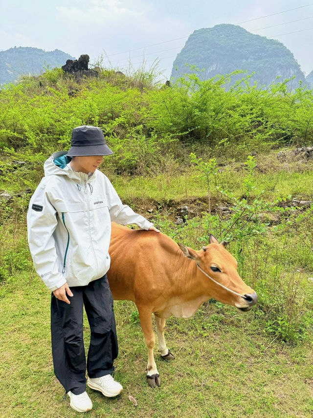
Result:
<instances>
[{"instance_id":1,"label":"white jacket sleeve on the arm reaching over the cow's back","mask_svg":"<svg viewBox=\"0 0 313 418\"><path fill-rule=\"evenodd\" d=\"M112 222L128 225L135 223L141 229L149 229L153 223L148 221L143 216L135 213L128 205L123 205L121 199L116 193L111 181L105 176L106 180L106 194L109 205L109 212Z\"/></svg>"}]
</instances>

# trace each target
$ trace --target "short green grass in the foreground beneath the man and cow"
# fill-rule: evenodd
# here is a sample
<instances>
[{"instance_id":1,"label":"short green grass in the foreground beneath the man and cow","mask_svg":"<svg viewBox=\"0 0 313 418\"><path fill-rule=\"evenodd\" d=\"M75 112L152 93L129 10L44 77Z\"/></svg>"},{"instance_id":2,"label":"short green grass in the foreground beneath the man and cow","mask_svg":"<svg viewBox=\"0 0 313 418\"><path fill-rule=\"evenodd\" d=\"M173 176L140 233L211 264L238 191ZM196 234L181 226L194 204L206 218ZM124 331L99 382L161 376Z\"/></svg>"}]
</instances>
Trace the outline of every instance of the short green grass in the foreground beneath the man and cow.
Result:
<instances>
[{"instance_id":1,"label":"short green grass in the foreground beneath the man and cow","mask_svg":"<svg viewBox=\"0 0 313 418\"><path fill-rule=\"evenodd\" d=\"M1 417L78 417L62 399L50 348L50 294L34 272L0 290ZM190 320L167 320L166 340L176 359L155 357L161 388L148 387L147 349L134 305L114 302L119 355L116 398L87 389L88 417L311 417L313 355L309 342L292 346L268 337L257 311L243 315L205 303ZM134 317L134 315L133 315ZM89 326L84 318L85 346ZM134 407L131 394L138 401Z\"/></svg>"}]
</instances>

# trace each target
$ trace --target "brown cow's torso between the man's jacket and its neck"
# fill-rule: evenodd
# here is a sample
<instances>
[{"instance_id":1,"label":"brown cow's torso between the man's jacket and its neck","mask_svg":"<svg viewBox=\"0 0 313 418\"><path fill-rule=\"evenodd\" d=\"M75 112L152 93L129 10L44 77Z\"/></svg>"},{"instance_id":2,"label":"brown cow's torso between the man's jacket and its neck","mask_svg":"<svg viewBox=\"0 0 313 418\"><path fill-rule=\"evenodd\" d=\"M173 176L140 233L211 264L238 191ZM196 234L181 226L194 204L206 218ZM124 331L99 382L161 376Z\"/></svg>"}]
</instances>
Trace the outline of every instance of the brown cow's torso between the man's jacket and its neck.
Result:
<instances>
[{"instance_id":1,"label":"brown cow's torso between the man's jacket and its neck","mask_svg":"<svg viewBox=\"0 0 313 418\"><path fill-rule=\"evenodd\" d=\"M113 298L148 302L153 295L155 299L169 286L177 244L155 231L133 230L114 222L111 226L111 266L107 274Z\"/></svg>"}]
</instances>

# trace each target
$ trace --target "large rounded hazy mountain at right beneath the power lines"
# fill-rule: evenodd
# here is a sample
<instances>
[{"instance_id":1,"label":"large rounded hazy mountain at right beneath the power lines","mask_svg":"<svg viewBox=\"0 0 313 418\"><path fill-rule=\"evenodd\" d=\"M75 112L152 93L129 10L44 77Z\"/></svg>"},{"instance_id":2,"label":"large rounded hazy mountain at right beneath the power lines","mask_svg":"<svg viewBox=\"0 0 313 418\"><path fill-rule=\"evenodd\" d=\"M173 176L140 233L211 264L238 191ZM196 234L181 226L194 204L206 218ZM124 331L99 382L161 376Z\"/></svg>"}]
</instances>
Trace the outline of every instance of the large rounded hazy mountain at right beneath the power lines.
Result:
<instances>
[{"instance_id":1,"label":"large rounded hazy mountain at right beneath the power lines","mask_svg":"<svg viewBox=\"0 0 313 418\"><path fill-rule=\"evenodd\" d=\"M213 28L195 30L188 38L185 46L177 55L171 73L174 80L180 74L190 73L184 63L195 64L204 79L217 74L228 74L235 70L247 70L248 74L256 72L250 79L261 85L268 86L276 76L290 78L295 75L291 89L299 80L305 80L299 64L291 51L281 42L265 36L254 35L241 26L215 25ZM238 74L233 82L243 77Z\"/></svg>"}]
</instances>

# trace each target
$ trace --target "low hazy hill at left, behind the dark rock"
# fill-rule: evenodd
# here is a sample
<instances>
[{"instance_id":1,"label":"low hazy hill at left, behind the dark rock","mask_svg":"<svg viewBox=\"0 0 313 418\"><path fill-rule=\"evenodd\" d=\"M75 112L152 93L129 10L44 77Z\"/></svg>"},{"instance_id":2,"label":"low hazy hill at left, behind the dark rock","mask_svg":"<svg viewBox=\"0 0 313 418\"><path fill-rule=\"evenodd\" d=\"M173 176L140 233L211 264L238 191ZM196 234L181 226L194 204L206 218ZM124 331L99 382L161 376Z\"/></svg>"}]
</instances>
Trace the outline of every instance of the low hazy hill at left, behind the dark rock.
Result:
<instances>
[{"instance_id":1,"label":"low hazy hill at left, behind the dark rock","mask_svg":"<svg viewBox=\"0 0 313 418\"><path fill-rule=\"evenodd\" d=\"M45 72L45 67L61 67L67 59L75 59L71 55L55 49L45 51L44 49L32 47L14 47L0 51L0 84L12 83L21 74L40 74Z\"/></svg>"}]
</instances>

